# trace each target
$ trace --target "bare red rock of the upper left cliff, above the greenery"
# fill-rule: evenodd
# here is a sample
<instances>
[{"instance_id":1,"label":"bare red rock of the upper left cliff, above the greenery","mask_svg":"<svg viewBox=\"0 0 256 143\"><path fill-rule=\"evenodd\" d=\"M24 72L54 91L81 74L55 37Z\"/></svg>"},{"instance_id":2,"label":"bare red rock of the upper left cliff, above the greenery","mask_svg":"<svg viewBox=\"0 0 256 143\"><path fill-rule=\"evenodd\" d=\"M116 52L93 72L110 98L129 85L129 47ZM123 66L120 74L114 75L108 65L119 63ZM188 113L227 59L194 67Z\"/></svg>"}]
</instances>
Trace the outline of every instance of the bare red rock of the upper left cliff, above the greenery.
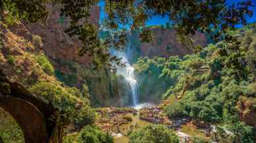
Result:
<instances>
[{"instance_id":1,"label":"bare red rock of the upper left cliff, above the greenery","mask_svg":"<svg viewBox=\"0 0 256 143\"><path fill-rule=\"evenodd\" d=\"M69 37L64 30L68 26L68 18L60 17L60 6L48 5L49 15L46 22L36 22L33 24L20 24L13 26L12 31L16 34L32 40L32 35L42 37L42 47L40 47L49 57L55 59L73 60L80 64L92 62L88 55L79 56L77 48L80 47L76 37ZM91 10L90 22L99 27L100 7L93 7Z\"/></svg>"}]
</instances>

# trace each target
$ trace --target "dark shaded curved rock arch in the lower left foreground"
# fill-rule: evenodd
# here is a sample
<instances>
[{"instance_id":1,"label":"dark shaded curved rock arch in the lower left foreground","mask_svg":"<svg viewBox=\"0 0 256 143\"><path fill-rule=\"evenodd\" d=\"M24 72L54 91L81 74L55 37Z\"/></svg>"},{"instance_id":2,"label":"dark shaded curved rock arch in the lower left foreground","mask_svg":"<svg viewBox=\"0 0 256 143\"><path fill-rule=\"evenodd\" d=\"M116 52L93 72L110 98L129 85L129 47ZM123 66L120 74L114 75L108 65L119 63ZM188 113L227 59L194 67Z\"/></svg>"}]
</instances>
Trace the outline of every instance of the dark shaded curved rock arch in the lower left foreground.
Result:
<instances>
[{"instance_id":1,"label":"dark shaded curved rock arch in the lower left foreground","mask_svg":"<svg viewBox=\"0 0 256 143\"><path fill-rule=\"evenodd\" d=\"M24 133L26 143L49 141L55 121L49 120L57 111L32 96L17 83L9 81L0 70L0 107L9 112Z\"/></svg>"}]
</instances>

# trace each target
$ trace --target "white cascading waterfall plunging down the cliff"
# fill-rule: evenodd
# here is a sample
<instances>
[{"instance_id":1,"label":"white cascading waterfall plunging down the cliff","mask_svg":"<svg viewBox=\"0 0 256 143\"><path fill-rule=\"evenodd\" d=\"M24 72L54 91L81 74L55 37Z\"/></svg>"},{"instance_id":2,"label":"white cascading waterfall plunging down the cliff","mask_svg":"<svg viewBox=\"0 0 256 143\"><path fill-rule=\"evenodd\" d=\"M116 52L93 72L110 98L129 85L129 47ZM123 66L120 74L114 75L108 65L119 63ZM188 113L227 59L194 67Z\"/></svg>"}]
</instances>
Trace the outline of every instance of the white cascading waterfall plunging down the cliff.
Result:
<instances>
[{"instance_id":1,"label":"white cascading waterfall plunging down the cliff","mask_svg":"<svg viewBox=\"0 0 256 143\"><path fill-rule=\"evenodd\" d=\"M129 51L129 48L127 48L127 51ZM137 106L139 87L138 87L137 79L135 77L134 68L133 66L131 66L131 64L129 64L129 61L127 60L127 54L129 52L115 51L112 49L111 53L112 55L115 55L118 58L121 58L121 62L126 63L125 67L117 67L117 74L123 75L127 83L129 83L129 86L131 87L131 98L133 101L133 106Z\"/></svg>"}]
</instances>

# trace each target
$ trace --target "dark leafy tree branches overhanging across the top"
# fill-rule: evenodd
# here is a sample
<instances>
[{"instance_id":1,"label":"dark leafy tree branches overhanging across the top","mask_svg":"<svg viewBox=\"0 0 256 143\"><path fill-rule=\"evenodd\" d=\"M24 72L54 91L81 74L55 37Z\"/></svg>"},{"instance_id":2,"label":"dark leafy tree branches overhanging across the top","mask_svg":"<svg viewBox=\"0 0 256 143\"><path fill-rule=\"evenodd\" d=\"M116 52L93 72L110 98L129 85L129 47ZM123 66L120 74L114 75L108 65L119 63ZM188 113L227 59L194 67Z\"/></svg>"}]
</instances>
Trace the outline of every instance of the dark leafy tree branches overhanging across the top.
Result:
<instances>
[{"instance_id":1,"label":"dark leafy tree branches overhanging across the top","mask_svg":"<svg viewBox=\"0 0 256 143\"><path fill-rule=\"evenodd\" d=\"M122 27L139 30L140 38L143 42L152 39L150 29L146 27L146 21L153 16L168 16L170 22L180 35L181 41L190 41L187 38L189 34L195 34L195 31L211 33L215 29L214 39L220 39L222 33L226 33L229 28L235 28L236 24L247 24L246 16L252 16L253 11L251 1L243 1L228 6L225 0L216 1L139 1L139 0L105 0L105 24L113 32L112 37L105 41L100 41L98 30L88 21L90 8L98 5L99 0L3 0L0 3L1 15L8 11L5 17L6 21L26 20L36 22L46 19L48 11L47 3L63 5L61 16L70 18L70 26L65 32L72 36L77 36L83 43L79 49L79 55L88 53L94 59L100 59L100 62L111 67L111 63L120 64L120 59L111 56L108 52L110 47L121 49L125 44L126 33L120 30ZM228 38L227 38L228 39ZM229 38L230 39L230 38Z\"/></svg>"}]
</instances>

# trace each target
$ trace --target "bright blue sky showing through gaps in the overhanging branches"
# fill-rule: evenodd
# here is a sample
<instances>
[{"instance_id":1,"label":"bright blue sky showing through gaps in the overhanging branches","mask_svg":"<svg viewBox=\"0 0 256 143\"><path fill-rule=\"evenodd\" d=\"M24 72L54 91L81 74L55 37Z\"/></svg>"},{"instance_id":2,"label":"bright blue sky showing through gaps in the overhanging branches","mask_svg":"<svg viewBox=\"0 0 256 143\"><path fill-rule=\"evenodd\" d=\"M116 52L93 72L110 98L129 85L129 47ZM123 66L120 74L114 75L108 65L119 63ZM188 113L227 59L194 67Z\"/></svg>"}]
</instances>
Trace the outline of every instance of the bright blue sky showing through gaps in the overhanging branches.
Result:
<instances>
[{"instance_id":1,"label":"bright blue sky showing through gaps in the overhanging branches","mask_svg":"<svg viewBox=\"0 0 256 143\"><path fill-rule=\"evenodd\" d=\"M241 0L227 0L228 5L231 5L232 3L238 3ZM256 0L251 0L253 1L253 5L255 7L253 7L253 17L251 18L247 18L247 21L249 23L251 22L256 22ZM104 7L104 3L100 2L100 7L103 9ZM104 10L101 10L100 12L100 17L101 19L105 16ZM148 20L148 22L146 22L147 26L154 26L154 25L161 25L161 24L166 24L166 22L168 22L168 17L162 17L162 16L154 16L154 18L151 18L150 20Z\"/></svg>"}]
</instances>

